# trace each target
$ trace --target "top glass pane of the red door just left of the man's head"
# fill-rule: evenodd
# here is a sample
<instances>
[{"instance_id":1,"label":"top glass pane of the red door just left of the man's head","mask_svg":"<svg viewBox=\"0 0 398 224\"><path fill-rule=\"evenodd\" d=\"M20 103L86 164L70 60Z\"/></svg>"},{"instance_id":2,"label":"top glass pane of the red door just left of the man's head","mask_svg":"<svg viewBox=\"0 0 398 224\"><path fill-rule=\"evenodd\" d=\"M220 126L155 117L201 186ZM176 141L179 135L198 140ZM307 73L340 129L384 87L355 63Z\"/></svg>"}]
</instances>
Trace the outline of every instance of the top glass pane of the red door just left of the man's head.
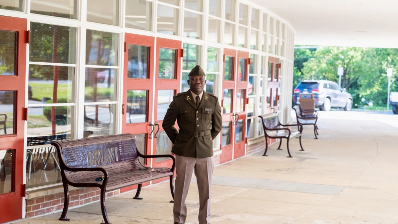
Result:
<instances>
[{"instance_id":1,"label":"top glass pane of the red door just left of the man's head","mask_svg":"<svg viewBox=\"0 0 398 224\"><path fill-rule=\"evenodd\" d=\"M159 48L159 79L176 79L176 56L177 50Z\"/></svg>"}]
</instances>

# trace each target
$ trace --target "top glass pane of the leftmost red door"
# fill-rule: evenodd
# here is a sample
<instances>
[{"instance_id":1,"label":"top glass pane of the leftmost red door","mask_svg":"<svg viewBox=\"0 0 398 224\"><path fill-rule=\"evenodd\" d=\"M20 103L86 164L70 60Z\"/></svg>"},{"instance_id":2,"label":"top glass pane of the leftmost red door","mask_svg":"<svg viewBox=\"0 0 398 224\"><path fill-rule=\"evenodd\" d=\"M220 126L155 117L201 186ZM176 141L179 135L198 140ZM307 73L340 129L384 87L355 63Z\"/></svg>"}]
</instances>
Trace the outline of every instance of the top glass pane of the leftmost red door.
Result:
<instances>
[{"instance_id":1,"label":"top glass pane of the leftmost red door","mask_svg":"<svg viewBox=\"0 0 398 224\"><path fill-rule=\"evenodd\" d=\"M16 75L17 32L0 30L0 76Z\"/></svg>"}]
</instances>

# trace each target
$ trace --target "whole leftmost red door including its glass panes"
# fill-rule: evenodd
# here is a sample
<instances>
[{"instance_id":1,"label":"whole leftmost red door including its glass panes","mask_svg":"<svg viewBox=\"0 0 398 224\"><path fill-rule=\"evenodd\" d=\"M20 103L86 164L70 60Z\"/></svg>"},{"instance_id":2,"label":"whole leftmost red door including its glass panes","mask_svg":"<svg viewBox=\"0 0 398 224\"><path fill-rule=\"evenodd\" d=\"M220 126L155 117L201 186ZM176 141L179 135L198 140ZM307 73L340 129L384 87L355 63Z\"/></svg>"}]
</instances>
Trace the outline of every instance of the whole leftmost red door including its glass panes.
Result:
<instances>
[{"instance_id":1,"label":"whole leftmost red door including its glass panes","mask_svg":"<svg viewBox=\"0 0 398 224\"><path fill-rule=\"evenodd\" d=\"M26 19L0 16L0 223L22 218Z\"/></svg>"}]
</instances>

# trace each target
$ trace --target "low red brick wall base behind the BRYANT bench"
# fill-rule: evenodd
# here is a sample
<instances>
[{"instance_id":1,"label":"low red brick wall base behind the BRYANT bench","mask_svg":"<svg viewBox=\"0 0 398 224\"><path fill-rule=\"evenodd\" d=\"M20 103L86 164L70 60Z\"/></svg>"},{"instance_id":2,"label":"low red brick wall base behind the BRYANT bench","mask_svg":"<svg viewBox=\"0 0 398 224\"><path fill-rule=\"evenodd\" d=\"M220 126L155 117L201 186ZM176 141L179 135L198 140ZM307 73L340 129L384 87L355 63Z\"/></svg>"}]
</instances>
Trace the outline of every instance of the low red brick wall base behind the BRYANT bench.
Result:
<instances>
[{"instance_id":1,"label":"low red brick wall base behind the BRYANT bench","mask_svg":"<svg viewBox=\"0 0 398 224\"><path fill-rule=\"evenodd\" d=\"M69 191L69 209L91 202L100 201L100 188L81 188ZM119 194L119 190L106 193L106 197L112 197ZM26 218L41 216L62 211L64 208L64 193L27 199L26 200Z\"/></svg>"}]
</instances>

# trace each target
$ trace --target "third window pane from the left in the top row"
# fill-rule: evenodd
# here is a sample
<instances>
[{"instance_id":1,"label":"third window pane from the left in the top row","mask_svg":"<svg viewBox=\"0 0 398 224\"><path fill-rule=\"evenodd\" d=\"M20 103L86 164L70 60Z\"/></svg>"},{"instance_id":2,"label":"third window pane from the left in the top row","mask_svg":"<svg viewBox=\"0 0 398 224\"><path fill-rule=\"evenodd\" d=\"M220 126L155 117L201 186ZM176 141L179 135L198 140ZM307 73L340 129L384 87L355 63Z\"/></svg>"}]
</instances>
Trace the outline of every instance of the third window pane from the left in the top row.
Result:
<instances>
[{"instance_id":1,"label":"third window pane from the left in the top row","mask_svg":"<svg viewBox=\"0 0 398 224\"><path fill-rule=\"evenodd\" d=\"M87 0L87 21L119 25L119 0Z\"/></svg>"}]
</instances>

